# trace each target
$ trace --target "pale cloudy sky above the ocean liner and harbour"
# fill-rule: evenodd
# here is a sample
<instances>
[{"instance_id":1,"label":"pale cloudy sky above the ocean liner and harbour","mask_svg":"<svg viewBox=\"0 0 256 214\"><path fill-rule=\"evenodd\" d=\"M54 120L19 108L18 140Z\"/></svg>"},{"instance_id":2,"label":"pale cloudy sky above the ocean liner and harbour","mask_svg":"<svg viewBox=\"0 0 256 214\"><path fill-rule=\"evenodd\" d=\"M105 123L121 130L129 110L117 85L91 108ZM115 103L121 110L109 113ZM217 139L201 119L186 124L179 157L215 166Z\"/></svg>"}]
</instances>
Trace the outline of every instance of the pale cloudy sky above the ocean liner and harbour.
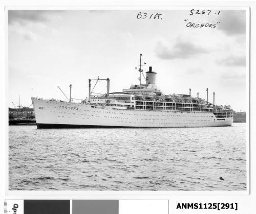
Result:
<instances>
[{"instance_id":1,"label":"pale cloudy sky above the ocean liner and harbour","mask_svg":"<svg viewBox=\"0 0 256 214\"><path fill-rule=\"evenodd\" d=\"M212 12L218 12L215 10ZM138 19L139 12L147 18ZM149 19L152 13L162 14ZM110 78L110 92L139 84L142 54L164 94L188 94L246 110L246 17L243 10L193 14L190 10L9 10L8 104L31 105L31 96L88 97L88 79ZM153 15L153 16L154 16ZM186 20L186 21L185 21ZM216 28L190 28L187 23ZM219 23L217 23L219 22ZM143 81L142 81L143 82ZM106 92L106 81L95 87Z\"/></svg>"}]
</instances>

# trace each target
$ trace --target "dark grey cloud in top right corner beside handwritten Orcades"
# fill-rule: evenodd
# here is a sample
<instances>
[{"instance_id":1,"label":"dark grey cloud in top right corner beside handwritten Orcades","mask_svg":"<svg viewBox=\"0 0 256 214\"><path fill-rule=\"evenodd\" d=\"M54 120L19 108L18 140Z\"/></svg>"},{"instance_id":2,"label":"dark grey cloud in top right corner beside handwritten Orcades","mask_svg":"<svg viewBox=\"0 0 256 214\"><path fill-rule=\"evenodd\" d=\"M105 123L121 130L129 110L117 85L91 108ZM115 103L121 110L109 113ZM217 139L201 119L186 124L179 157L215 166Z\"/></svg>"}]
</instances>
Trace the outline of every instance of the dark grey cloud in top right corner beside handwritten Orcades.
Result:
<instances>
[{"instance_id":1,"label":"dark grey cloud in top right corner beside handwritten Orcades","mask_svg":"<svg viewBox=\"0 0 256 214\"><path fill-rule=\"evenodd\" d=\"M218 29L227 35L246 33L245 10L222 10Z\"/></svg>"}]
</instances>

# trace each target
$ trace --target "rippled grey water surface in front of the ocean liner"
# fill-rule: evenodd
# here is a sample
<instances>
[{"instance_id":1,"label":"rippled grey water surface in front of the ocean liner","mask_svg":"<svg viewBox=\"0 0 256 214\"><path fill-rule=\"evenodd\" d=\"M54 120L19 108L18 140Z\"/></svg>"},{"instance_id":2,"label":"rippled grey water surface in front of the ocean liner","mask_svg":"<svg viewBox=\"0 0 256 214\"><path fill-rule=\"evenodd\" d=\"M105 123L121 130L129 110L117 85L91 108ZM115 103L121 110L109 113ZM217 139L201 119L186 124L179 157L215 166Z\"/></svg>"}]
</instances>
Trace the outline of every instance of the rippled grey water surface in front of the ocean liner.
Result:
<instances>
[{"instance_id":1,"label":"rippled grey water surface in front of the ocean liner","mask_svg":"<svg viewBox=\"0 0 256 214\"><path fill-rule=\"evenodd\" d=\"M9 189L246 190L246 124L115 129L9 126Z\"/></svg>"}]
</instances>

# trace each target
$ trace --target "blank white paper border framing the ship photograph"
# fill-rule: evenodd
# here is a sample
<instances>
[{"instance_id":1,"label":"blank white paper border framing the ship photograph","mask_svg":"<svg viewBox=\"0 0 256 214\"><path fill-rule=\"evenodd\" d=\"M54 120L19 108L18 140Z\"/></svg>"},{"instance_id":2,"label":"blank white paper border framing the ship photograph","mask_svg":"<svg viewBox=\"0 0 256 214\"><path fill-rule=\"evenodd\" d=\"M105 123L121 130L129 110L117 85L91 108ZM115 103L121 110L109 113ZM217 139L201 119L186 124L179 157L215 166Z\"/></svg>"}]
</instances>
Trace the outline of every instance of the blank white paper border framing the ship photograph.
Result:
<instances>
[{"instance_id":1,"label":"blank white paper border framing the ship photograph","mask_svg":"<svg viewBox=\"0 0 256 214\"><path fill-rule=\"evenodd\" d=\"M193 5L195 7L195 5ZM170 195L248 195L250 194L250 8L249 7L224 7L224 6L197 6L198 9L220 10L245 10L246 11L246 191L10 191L9 190L9 165L8 165L8 102L5 104L5 174L6 198L8 199L168 199ZM189 10L188 6L20 6L5 8L5 90L8 98L8 10Z\"/></svg>"}]
</instances>

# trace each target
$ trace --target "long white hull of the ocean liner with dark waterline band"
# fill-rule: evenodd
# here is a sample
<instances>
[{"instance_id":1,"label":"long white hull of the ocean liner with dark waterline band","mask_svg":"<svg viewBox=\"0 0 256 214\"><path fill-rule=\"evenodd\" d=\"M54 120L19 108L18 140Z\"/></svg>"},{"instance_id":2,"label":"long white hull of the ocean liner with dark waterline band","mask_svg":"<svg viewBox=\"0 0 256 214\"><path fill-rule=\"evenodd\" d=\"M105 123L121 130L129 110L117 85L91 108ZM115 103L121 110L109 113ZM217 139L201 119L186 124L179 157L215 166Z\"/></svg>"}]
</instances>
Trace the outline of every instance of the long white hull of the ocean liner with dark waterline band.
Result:
<instances>
[{"instance_id":1,"label":"long white hull of the ocean liner with dark waterline band","mask_svg":"<svg viewBox=\"0 0 256 214\"><path fill-rule=\"evenodd\" d=\"M231 126L232 117L212 112L105 109L32 98L38 128L159 128Z\"/></svg>"}]
</instances>

